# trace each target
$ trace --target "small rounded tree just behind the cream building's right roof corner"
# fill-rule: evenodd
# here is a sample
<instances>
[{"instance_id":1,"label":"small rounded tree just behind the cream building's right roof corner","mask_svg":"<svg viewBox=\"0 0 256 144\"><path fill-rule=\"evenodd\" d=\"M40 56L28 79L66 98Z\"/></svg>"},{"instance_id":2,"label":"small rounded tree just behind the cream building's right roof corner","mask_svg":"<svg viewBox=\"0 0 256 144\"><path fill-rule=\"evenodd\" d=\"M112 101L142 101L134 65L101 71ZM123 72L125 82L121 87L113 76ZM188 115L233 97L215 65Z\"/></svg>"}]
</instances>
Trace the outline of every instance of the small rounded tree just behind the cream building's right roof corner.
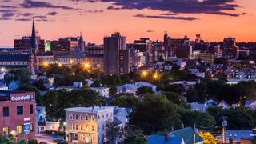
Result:
<instances>
[{"instance_id":1,"label":"small rounded tree just behind the cream building's right roof corner","mask_svg":"<svg viewBox=\"0 0 256 144\"><path fill-rule=\"evenodd\" d=\"M111 105L134 108L138 104L138 102L139 98L137 97L121 95L117 98L114 98L114 100L111 102Z\"/></svg>"}]
</instances>

